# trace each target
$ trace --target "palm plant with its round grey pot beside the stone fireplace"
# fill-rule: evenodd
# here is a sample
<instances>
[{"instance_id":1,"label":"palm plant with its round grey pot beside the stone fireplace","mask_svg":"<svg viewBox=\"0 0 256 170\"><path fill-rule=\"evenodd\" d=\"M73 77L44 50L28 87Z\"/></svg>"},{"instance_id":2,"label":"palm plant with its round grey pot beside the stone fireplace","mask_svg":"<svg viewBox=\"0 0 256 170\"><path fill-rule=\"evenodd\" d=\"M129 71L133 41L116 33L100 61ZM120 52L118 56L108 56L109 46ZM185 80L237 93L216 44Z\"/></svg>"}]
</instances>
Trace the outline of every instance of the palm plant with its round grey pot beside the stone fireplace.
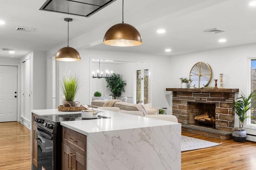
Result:
<instances>
[{"instance_id":1,"label":"palm plant with its round grey pot beside the stone fireplace","mask_svg":"<svg viewBox=\"0 0 256 170\"><path fill-rule=\"evenodd\" d=\"M243 129L244 120L247 118L254 118L252 115L247 115L247 111L251 109L251 101L253 93L248 97L240 94L241 97L237 98L233 104L235 113L239 118L239 127L235 127L232 131L232 137L236 142L244 142L246 140L246 131Z\"/></svg>"}]
</instances>

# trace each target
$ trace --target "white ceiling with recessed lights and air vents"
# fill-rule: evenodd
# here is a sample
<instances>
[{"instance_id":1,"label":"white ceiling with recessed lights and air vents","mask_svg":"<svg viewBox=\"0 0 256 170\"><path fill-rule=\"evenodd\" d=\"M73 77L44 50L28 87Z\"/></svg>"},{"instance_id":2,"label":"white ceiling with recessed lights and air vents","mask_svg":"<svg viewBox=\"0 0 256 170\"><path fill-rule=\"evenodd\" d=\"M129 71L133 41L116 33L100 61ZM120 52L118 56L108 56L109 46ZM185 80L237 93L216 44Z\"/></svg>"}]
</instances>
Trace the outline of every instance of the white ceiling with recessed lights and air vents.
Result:
<instances>
[{"instance_id":1,"label":"white ceiling with recessed lights and air vents","mask_svg":"<svg viewBox=\"0 0 256 170\"><path fill-rule=\"evenodd\" d=\"M252 0L125 0L124 22L136 27L142 35L143 44L136 47L102 43L104 32L122 22L122 0L116 0L89 18L39 10L45 1L0 1L0 20L6 22L0 25L0 49L15 49L13 56L19 58L30 51L48 51L64 45L68 27L64 18L73 19L69 24L70 39L90 34L84 44L74 44L79 49L169 56L256 43L256 7L248 5ZM16 31L17 26L35 30ZM157 34L159 28L166 29L166 33ZM204 32L212 28L225 32ZM227 41L219 43L220 38ZM166 48L172 51L166 53ZM0 57L10 57L10 54L0 50Z\"/></svg>"}]
</instances>

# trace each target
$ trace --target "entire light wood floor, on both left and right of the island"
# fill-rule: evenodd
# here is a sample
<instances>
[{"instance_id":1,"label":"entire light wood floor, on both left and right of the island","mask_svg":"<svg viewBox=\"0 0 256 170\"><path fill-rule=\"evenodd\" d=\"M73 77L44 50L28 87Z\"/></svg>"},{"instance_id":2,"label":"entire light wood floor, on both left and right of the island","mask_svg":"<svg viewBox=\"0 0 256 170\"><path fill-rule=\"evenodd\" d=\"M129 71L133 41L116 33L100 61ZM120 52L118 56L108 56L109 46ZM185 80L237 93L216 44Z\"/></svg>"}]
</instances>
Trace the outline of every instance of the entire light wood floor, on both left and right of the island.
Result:
<instances>
[{"instance_id":1,"label":"entire light wood floor, on both left and right of the island","mask_svg":"<svg viewBox=\"0 0 256 170\"><path fill-rule=\"evenodd\" d=\"M237 143L192 133L182 135L221 143L182 152L182 170L256 170L256 143ZM0 170L30 170L30 130L18 122L0 123Z\"/></svg>"}]
</instances>

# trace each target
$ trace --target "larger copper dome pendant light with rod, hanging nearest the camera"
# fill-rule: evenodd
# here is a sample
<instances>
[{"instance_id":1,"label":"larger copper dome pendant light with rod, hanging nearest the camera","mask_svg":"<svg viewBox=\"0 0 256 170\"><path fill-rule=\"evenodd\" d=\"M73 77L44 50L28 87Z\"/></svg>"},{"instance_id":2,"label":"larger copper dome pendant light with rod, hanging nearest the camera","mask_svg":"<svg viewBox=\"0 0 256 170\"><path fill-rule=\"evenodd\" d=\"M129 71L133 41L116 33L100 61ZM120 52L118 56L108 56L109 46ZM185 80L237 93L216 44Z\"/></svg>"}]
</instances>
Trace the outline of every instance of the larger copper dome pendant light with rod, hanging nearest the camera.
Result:
<instances>
[{"instance_id":1,"label":"larger copper dome pendant light with rod, hanging nearest the camera","mask_svg":"<svg viewBox=\"0 0 256 170\"><path fill-rule=\"evenodd\" d=\"M106 45L130 47L142 44L139 31L130 24L124 23L124 0L122 6L122 23L113 25L106 32L103 43Z\"/></svg>"}]
</instances>

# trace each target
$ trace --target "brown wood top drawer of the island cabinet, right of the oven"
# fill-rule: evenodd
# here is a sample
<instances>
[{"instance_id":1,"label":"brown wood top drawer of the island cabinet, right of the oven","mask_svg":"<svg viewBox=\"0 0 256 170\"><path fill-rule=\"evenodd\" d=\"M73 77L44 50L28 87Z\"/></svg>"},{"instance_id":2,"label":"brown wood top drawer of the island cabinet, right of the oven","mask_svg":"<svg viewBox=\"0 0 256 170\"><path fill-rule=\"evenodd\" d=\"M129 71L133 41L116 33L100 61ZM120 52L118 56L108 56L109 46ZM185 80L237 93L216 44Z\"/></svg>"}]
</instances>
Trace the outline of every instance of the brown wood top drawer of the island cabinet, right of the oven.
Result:
<instances>
[{"instance_id":1,"label":"brown wood top drawer of the island cabinet, right of the oven","mask_svg":"<svg viewBox=\"0 0 256 170\"><path fill-rule=\"evenodd\" d=\"M85 135L62 127L62 143L86 157L87 137Z\"/></svg>"}]
</instances>

